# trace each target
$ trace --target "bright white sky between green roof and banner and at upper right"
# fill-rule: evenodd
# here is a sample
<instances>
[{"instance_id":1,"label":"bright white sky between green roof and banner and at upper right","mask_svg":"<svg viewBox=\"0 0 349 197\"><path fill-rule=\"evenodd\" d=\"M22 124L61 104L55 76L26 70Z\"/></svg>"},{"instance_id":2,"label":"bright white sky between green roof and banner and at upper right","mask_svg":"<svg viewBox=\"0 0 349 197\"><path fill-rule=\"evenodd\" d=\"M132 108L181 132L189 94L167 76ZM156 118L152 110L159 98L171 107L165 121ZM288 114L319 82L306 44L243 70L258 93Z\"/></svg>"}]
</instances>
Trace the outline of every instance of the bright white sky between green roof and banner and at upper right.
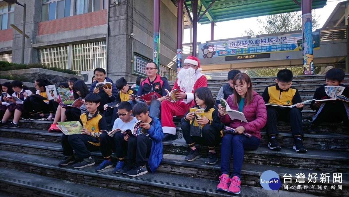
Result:
<instances>
[{"instance_id":1,"label":"bright white sky between green roof and banner and at upper right","mask_svg":"<svg viewBox=\"0 0 349 197\"><path fill-rule=\"evenodd\" d=\"M320 27L324 25L337 3L345 0L327 0L327 5L324 8L315 9L313 13L320 16ZM266 16L260 16L259 19L263 21ZM245 35L245 30L252 29L254 32L258 32L257 17L238 19L233 21L217 22L217 26L214 27L214 39L227 39L236 38ZM239 28L236 28L239 27ZM199 33L206 32L206 33ZM211 24L198 24L198 37L197 41L205 43L211 39ZM190 43L190 29L184 29L183 43Z\"/></svg>"}]
</instances>

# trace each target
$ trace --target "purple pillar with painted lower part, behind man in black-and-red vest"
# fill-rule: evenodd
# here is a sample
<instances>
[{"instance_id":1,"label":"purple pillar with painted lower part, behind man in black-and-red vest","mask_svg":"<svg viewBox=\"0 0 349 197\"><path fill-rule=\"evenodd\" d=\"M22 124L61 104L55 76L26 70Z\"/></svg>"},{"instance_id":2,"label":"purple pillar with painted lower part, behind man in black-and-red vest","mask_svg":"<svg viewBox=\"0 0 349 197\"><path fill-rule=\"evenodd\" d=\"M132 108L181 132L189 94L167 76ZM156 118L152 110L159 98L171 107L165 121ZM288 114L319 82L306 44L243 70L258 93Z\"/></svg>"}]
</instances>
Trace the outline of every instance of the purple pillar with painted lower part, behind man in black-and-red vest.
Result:
<instances>
[{"instance_id":1,"label":"purple pillar with painted lower part, behind man in black-and-red vest","mask_svg":"<svg viewBox=\"0 0 349 197\"><path fill-rule=\"evenodd\" d=\"M157 65L159 73L159 49L160 49L160 0L154 0L154 17L153 17L153 61Z\"/></svg>"}]
</instances>

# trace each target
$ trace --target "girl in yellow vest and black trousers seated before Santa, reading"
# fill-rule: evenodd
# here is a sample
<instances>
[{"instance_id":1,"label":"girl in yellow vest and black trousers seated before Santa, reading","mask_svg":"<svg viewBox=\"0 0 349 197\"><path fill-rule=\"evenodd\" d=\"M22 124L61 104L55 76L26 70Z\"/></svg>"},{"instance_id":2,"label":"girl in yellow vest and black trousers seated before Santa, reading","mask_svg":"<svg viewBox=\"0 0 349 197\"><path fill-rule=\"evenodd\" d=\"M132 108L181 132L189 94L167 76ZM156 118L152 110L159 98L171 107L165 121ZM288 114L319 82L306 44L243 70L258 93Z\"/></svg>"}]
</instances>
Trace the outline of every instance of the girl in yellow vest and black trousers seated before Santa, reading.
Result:
<instances>
[{"instance_id":1,"label":"girl in yellow vest and black trousers seated before Santa, reading","mask_svg":"<svg viewBox=\"0 0 349 197\"><path fill-rule=\"evenodd\" d=\"M181 119L181 129L185 142L190 147L190 153L185 157L186 161L194 161L201 158L199 150L195 147L195 143L207 145L209 148L208 156L205 161L208 165L214 165L218 161L215 151L216 145L222 141L222 125L218 118L218 108L215 106L215 101L211 90L208 87L201 87L194 92L195 109L203 109L204 116L197 118L197 122L202 126L202 137L191 136L191 125L194 121L195 114L187 111Z\"/></svg>"}]
</instances>

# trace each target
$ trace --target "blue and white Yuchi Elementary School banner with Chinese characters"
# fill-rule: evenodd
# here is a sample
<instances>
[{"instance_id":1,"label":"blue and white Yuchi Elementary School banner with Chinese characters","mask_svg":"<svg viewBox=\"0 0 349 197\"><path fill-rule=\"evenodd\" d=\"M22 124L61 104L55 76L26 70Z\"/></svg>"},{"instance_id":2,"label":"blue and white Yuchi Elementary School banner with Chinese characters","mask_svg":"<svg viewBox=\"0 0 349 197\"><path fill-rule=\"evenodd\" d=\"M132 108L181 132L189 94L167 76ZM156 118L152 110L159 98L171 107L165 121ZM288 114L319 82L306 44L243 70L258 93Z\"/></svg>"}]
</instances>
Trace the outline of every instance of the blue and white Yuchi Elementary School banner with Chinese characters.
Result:
<instances>
[{"instance_id":1,"label":"blue and white Yuchi Elementary School banner with Chinese characters","mask_svg":"<svg viewBox=\"0 0 349 197\"><path fill-rule=\"evenodd\" d=\"M199 44L199 59L237 54L302 51L302 33ZM313 32L313 49L320 49L320 31Z\"/></svg>"}]
</instances>

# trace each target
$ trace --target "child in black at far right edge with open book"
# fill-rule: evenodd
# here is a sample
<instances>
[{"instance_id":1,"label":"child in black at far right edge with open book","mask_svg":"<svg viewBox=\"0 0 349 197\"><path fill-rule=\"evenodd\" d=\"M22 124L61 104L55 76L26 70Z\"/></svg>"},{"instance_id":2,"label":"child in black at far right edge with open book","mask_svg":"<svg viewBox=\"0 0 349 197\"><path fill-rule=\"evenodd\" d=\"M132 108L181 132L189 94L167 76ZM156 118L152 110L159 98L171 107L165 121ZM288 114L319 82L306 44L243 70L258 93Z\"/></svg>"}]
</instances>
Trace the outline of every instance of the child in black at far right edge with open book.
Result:
<instances>
[{"instance_id":1,"label":"child in black at far right edge with open book","mask_svg":"<svg viewBox=\"0 0 349 197\"><path fill-rule=\"evenodd\" d=\"M342 95L349 98L349 87L343 85L344 71L340 68L332 68L327 71L325 75L325 83L315 90L313 99L322 100L330 99L326 92L325 86L342 86L345 87ZM340 100L318 102L313 101L310 104L312 110L316 110L316 114L313 117L313 123L309 126L308 133L316 134L317 125L322 122L343 122L344 125L349 126L349 107L347 102Z\"/></svg>"}]
</instances>

